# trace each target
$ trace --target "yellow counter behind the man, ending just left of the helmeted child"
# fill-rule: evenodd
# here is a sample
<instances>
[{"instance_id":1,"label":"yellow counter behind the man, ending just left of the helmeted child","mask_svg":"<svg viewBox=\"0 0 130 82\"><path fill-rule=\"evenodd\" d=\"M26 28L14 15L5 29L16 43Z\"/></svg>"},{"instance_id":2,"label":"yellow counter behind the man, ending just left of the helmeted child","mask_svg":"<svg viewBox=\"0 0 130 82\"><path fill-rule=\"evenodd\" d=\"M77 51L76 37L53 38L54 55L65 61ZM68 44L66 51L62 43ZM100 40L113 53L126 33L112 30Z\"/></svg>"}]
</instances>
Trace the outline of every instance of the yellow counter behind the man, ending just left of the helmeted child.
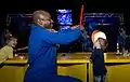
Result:
<instances>
[{"instance_id":1,"label":"yellow counter behind the man, ending just left of the helmeted child","mask_svg":"<svg viewBox=\"0 0 130 82\"><path fill-rule=\"evenodd\" d=\"M87 64L89 64L89 60L84 58L87 53L73 53L67 58L61 54L57 56L57 73L79 78L83 82L87 82ZM8 59L2 65L0 69L0 82L23 82L24 73L28 66L27 58Z\"/></svg>"}]
</instances>

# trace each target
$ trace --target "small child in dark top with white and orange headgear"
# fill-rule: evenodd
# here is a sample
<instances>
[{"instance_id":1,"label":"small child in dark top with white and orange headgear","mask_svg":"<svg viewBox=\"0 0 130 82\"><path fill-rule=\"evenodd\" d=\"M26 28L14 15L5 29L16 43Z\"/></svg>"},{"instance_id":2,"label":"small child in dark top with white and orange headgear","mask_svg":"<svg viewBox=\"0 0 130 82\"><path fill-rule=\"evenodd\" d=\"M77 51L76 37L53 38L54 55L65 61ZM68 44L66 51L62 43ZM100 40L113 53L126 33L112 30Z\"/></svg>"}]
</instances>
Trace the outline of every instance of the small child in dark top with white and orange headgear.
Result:
<instances>
[{"instance_id":1,"label":"small child in dark top with white and orange headgear","mask_svg":"<svg viewBox=\"0 0 130 82\"><path fill-rule=\"evenodd\" d=\"M102 31L92 33L93 52L90 57L93 63L94 82L105 82L106 68L104 63L104 50L107 46L106 36Z\"/></svg>"}]
</instances>

